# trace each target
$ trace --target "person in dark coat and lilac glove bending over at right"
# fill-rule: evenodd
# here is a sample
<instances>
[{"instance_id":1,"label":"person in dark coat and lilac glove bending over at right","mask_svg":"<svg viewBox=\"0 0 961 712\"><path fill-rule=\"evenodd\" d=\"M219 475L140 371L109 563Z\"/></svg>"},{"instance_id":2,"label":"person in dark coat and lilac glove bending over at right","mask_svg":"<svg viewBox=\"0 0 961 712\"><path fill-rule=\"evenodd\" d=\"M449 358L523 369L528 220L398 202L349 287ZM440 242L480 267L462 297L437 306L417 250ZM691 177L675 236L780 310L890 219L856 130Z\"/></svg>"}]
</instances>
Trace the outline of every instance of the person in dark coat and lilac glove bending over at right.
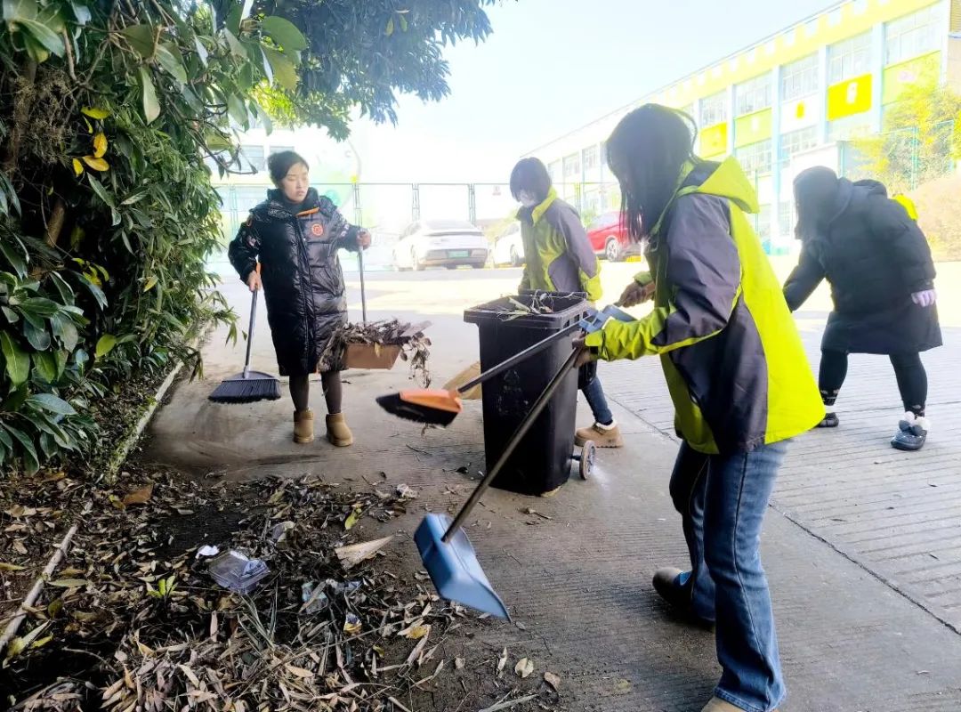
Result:
<instances>
[{"instance_id":1,"label":"person in dark coat and lilac glove bending over at right","mask_svg":"<svg viewBox=\"0 0 961 712\"><path fill-rule=\"evenodd\" d=\"M798 266L784 284L794 311L826 279L834 309L821 343L821 428L836 428L832 408L848 373L849 354L890 356L904 417L891 444L921 450L927 374L921 352L941 346L934 306L934 264L924 233L876 181L851 183L829 168L809 168L794 182Z\"/></svg>"}]
</instances>

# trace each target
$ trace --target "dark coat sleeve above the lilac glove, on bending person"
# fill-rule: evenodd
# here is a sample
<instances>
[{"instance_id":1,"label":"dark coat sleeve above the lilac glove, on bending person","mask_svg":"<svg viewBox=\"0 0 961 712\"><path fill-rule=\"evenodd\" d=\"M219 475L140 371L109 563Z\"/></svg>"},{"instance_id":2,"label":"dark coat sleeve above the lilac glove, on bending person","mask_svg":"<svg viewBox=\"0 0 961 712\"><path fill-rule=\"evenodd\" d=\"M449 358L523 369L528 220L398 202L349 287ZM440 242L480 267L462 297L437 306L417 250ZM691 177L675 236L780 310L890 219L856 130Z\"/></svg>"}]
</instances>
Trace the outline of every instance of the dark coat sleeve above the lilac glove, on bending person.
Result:
<instances>
[{"instance_id":1,"label":"dark coat sleeve above the lilac glove, on bending person","mask_svg":"<svg viewBox=\"0 0 961 712\"><path fill-rule=\"evenodd\" d=\"M930 289L934 284L934 261L927 238L898 202L877 198L868 213L871 229L891 258L900 265L904 283L914 292Z\"/></svg>"}]
</instances>

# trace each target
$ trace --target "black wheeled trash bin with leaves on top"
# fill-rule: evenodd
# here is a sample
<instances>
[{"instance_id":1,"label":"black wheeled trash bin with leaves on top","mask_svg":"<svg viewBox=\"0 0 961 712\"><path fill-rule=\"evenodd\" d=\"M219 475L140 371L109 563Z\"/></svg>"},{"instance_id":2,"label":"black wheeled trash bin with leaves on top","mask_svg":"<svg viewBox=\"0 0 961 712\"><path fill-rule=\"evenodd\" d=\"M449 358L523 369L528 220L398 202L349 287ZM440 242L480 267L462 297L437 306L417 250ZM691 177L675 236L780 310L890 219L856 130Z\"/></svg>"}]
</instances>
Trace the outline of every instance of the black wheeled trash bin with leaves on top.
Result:
<instances>
[{"instance_id":1,"label":"black wheeled trash bin with leaves on top","mask_svg":"<svg viewBox=\"0 0 961 712\"><path fill-rule=\"evenodd\" d=\"M551 312L523 316L511 313L517 311L511 299L530 306L535 298ZM539 292L536 297L522 294L467 309L464 321L478 326L480 369L486 371L578 322L587 313L588 304L578 295ZM530 412L530 406L571 355L571 348L571 341L561 339L483 384L483 439L488 469L504 452L507 440ZM571 474L577 411L578 371L571 369L492 486L525 495L542 495L566 482Z\"/></svg>"}]
</instances>

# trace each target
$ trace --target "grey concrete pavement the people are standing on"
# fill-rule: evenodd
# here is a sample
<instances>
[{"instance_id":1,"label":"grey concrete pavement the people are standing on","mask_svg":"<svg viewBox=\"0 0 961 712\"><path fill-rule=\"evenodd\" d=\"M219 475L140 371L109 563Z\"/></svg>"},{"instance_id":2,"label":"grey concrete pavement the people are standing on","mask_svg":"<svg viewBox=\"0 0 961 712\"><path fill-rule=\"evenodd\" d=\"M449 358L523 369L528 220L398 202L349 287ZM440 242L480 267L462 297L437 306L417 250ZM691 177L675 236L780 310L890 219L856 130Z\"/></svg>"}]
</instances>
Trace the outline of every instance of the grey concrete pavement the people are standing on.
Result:
<instances>
[{"instance_id":1,"label":"grey concrete pavement the people are standing on","mask_svg":"<svg viewBox=\"0 0 961 712\"><path fill-rule=\"evenodd\" d=\"M609 293L631 270L613 267ZM434 322L431 370L442 382L477 354L476 329L462 323L463 308L516 283L509 270L384 274L369 279L368 294L372 318ZM229 282L228 294L246 315L249 302L239 285ZM818 299L824 295L813 308ZM823 316L801 314L812 350ZM839 404L841 429L810 433L794 445L763 551L791 690L782 710L961 709L961 447L954 446L961 404L950 400L961 378L951 364L961 347L953 331L948 342L925 359L937 430L922 454L902 456L887 447L899 408L883 359L855 362ZM392 548L390 564L417 570L409 534L423 508L455 508L482 468L480 404L470 404L448 430L421 433L373 403L375 395L406 384L403 364L388 373L350 373L345 409L357 445L295 446L286 400L206 401L215 382L242 363L242 345L222 344L223 334L215 334L205 350L208 382L182 383L160 410L147 455L232 479L312 472L362 489L384 480L407 483L420 492L422 509L389 526L388 532L400 527L407 534ZM265 331L255 336L255 363L276 368ZM566 709L696 711L719 674L712 636L676 621L650 585L658 566L682 565L686 557L667 492L677 445L656 366L654 360L602 366L629 437L625 449L601 454L593 479L575 477L552 499L491 491L468 525L488 577L526 627L484 626L473 645L506 646L530 656L538 675L560 675ZM320 406L319 389L316 396ZM581 416L587 422L583 405ZM550 519L524 514L528 507ZM371 535L383 530L363 526Z\"/></svg>"}]
</instances>

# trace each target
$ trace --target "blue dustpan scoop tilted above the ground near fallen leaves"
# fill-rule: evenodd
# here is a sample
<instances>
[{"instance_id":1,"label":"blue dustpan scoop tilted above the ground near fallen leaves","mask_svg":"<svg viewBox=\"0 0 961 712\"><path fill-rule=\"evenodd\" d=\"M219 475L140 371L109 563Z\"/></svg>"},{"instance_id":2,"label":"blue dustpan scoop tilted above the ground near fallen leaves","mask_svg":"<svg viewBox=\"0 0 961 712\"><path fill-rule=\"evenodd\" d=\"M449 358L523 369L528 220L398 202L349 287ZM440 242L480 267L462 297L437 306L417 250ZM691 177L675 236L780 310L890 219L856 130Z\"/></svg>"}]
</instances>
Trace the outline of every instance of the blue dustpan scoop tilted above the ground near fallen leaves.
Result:
<instances>
[{"instance_id":1,"label":"blue dustpan scoop tilted above the ground near fallen leaves","mask_svg":"<svg viewBox=\"0 0 961 712\"><path fill-rule=\"evenodd\" d=\"M450 541L444 541L444 533L450 526L450 517L428 514L414 533L421 560L437 593L448 601L509 620L507 607L484 576L464 530L456 529Z\"/></svg>"}]
</instances>

